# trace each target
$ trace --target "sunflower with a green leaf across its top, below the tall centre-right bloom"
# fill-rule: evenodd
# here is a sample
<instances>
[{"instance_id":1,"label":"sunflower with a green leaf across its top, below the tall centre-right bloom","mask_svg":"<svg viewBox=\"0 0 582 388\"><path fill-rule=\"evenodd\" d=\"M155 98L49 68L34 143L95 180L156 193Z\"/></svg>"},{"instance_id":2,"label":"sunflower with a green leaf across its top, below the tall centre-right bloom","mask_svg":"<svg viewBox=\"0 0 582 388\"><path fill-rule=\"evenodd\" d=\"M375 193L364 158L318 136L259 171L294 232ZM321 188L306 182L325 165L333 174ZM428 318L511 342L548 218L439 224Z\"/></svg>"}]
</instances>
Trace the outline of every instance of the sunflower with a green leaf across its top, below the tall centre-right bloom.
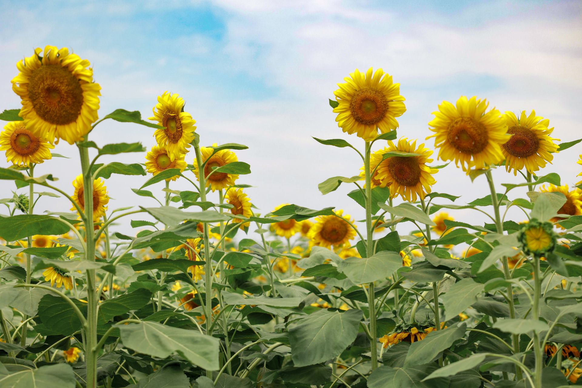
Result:
<instances>
[{"instance_id":1,"label":"sunflower with a green leaf across its top, below the tall centre-right bloom","mask_svg":"<svg viewBox=\"0 0 582 388\"><path fill-rule=\"evenodd\" d=\"M398 145L388 141L388 146L384 148L384 152L402 151L420 155L392 156L381 161L375 175L375 179L381 183L379 186L388 186L392 198L400 194L403 199L415 202L418 194L423 200L425 195L431 192L431 186L437 183L432 175L438 170L426 165L432 162L432 159L428 158L432 151L424 148L424 144L416 148L416 140L408 141L406 137L400 138Z\"/></svg>"}]
</instances>

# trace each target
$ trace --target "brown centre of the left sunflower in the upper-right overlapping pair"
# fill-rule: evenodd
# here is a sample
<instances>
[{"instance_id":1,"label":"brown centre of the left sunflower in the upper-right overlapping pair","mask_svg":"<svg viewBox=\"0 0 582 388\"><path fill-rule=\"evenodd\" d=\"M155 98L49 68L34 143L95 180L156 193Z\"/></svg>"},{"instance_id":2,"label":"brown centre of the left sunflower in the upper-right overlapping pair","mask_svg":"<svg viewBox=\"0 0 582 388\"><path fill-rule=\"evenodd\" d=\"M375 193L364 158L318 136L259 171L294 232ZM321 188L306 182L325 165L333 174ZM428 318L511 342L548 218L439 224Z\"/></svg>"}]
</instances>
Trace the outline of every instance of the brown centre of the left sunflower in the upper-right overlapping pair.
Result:
<instances>
[{"instance_id":1,"label":"brown centre of the left sunflower in the upper-right overlapping pair","mask_svg":"<svg viewBox=\"0 0 582 388\"><path fill-rule=\"evenodd\" d=\"M460 117L450 123L447 139L464 154L478 154L487 147L489 134L485 126L477 120Z\"/></svg>"}]
</instances>

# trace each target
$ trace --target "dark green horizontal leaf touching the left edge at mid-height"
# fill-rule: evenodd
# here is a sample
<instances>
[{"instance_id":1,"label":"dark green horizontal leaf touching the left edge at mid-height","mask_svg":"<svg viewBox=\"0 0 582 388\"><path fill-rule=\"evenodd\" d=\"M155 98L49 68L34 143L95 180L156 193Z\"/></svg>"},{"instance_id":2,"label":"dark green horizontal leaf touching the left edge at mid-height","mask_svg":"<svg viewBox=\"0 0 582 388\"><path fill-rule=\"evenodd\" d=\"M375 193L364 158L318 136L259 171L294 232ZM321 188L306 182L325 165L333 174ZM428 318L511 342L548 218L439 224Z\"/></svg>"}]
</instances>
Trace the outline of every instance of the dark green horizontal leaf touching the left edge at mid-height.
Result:
<instances>
[{"instance_id":1,"label":"dark green horizontal leaf touching the left edge at mid-height","mask_svg":"<svg viewBox=\"0 0 582 388\"><path fill-rule=\"evenodd\" d=\"M59 219L38 214L19 214L0 217L0 237L6 241L16 241L34 234L65 234L69 226Z\"/></svg>"}]
</instances>

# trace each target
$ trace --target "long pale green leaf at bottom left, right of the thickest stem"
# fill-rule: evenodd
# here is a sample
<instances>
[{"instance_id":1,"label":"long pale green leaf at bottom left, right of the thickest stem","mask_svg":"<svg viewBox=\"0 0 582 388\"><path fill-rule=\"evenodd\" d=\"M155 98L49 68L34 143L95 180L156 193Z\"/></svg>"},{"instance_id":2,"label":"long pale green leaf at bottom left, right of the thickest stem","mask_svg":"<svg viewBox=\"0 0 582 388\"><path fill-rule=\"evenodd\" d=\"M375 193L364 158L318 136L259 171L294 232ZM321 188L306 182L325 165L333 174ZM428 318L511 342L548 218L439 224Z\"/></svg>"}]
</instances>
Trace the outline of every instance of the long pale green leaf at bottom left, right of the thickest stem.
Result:
<instances>
[{"instance_id":1,"label":"long pale green leaf at bottom left, right of the thickest stem","mask_svg":"<svg viewBox=\"0 0 582 388\"><path fill-rule=\"evenodd\" d=\"M140 353L162 358L178 353L200 368L210 371L219 368L219 340L196 330L141 322L119 325L119 332L123 344Z\"/></svg>"}]
</instances>

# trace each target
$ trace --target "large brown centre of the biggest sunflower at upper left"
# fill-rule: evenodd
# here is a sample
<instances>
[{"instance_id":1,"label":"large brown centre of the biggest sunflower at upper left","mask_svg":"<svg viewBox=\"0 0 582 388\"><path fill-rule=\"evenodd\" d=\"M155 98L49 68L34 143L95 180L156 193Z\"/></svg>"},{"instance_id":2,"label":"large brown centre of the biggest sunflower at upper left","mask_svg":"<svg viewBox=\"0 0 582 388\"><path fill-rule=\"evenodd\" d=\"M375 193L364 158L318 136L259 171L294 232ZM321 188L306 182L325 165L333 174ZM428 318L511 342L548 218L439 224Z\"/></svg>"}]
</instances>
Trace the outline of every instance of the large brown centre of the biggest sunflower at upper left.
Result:
<instances>
[{"instance_id":1,"label":"large brown centre of the biggest sunflower at upper left","mask_svg":"<svg viewBox=\"0 0 582 388\"><path fill-rule=\"evenodd\" d=\"M79 118L83 89L66 67L42 65L30 75L29 98L41 119L64 125Z\"/></svg>"}]
</instances>

